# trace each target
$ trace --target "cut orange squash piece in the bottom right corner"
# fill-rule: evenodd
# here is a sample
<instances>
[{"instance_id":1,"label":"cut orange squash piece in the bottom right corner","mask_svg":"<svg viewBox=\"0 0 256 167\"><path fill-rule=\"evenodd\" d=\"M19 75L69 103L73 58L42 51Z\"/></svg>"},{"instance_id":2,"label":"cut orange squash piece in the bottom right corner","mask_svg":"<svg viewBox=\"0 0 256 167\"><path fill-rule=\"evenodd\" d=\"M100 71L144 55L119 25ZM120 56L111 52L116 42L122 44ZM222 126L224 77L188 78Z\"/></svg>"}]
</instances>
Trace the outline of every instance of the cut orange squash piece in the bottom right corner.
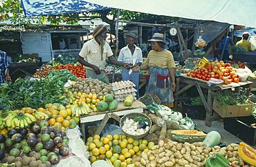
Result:
<instances>
[{"instance_id":1,"label":"cut orange squash piece in the bottom right corner","mask_svg":"<svg viewBox=\"0 0 256 167\"><path fill-rule=\"evenodd\" d=\"M238 154L248 164L256 166L256 150L241 142L238 147Z\"/></svg>"}]
</instances>

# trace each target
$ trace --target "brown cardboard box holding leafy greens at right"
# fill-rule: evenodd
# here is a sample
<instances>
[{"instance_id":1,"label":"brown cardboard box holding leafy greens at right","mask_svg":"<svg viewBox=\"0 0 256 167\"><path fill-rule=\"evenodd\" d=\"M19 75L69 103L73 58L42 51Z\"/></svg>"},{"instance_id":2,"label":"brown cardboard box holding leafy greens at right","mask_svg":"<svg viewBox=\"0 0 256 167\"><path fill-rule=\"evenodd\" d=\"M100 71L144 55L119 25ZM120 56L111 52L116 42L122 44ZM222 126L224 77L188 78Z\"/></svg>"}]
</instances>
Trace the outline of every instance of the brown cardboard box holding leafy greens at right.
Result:
<instances>
[{"instance_id":1,"label":"brown cardboard box holding leafy greens at right","mask_svg":"<svg viewBox=\"0 0 256 167\"><path fill-rule=\"evenodd\" d=\"M212 109L221 117L245 117L252 115L254 104L243 104L240 106L222 106L214 99Z\"/></svg>"}]
</instances>

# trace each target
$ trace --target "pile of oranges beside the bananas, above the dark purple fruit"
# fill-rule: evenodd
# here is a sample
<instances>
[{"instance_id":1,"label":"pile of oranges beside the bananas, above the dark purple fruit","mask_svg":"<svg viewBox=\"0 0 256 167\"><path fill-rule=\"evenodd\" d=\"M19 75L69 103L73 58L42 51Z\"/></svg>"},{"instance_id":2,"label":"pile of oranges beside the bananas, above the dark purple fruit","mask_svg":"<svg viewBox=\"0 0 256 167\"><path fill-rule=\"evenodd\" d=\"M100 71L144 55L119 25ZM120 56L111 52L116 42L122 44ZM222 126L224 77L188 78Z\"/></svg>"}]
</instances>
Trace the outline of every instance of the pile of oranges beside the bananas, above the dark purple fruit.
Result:
<instances>
[{"instance_id":1,"label":"pile of oranges beside the bananas, above the dark purple fruit","mask_svg":"<svg viewBox=\"0 0 256 167\"><path fill-rule=\"evenodd\" d=\"M65 131L66 128L75 128L80 121L79 117L72 116L72 106L63 106L61 104L46 104L44 108L38 110L49 116L48 123L50 126L56 126Z\"/></svg>"}]
</instances>

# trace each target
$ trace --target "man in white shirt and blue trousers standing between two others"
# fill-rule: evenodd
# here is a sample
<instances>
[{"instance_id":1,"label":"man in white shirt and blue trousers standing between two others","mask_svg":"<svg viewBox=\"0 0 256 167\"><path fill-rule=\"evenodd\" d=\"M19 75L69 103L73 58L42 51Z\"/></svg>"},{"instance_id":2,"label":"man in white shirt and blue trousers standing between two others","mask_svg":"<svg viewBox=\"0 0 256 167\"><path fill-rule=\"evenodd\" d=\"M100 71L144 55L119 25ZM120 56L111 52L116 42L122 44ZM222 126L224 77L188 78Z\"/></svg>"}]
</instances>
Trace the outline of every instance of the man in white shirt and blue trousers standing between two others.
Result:
<instances>
[{"instance_id":1,"label":"man in white shirt and blue trousers standing between two others","mask_svg":"<svg viewBox=\"0 0 256 167\"><path fill-rule=\"evenodd\" d=\"M134 33L127 34L127 43L128 45L125 46L120 50L120 54L118 57L118 61L123 63L128 63L129 66L140 66L143 63L143 53L141 49L135 45L136 35ZM136 60L135 65L133 65L134 59ZM139 86L139 77L140 73L138 71L133 71L129 73L131 68L123 68L122 69L122 81L132 81L136 86L136 98L139 98L138 93L138 86Z\"/></svg>"}]
</instances>

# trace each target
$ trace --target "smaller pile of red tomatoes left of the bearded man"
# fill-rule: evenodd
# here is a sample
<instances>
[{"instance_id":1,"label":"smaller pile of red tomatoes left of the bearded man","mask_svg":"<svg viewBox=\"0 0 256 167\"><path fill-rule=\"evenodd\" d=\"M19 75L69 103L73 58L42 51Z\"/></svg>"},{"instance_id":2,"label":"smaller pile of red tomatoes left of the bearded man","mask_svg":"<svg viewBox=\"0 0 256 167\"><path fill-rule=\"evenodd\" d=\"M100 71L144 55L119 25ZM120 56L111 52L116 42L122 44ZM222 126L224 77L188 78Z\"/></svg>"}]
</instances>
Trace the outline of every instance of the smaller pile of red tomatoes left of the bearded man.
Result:
<instances>
[{"instance_id":1,"label":"smaller pile of red tomatoes left of the bearded man","mask_svg":"<svg viewBox=\"0 0 256 167\"><path fill-rule=\"evenodd\" d=\"M75 75L76 77L86 78L86 70L84 66L82 66L82 64L74 65L74 64L68 63L66 65L60 65L55 67L55 70L62 70L62 69L70 70L73 73L73 75Z\"/></svg>"}]
</instances>

